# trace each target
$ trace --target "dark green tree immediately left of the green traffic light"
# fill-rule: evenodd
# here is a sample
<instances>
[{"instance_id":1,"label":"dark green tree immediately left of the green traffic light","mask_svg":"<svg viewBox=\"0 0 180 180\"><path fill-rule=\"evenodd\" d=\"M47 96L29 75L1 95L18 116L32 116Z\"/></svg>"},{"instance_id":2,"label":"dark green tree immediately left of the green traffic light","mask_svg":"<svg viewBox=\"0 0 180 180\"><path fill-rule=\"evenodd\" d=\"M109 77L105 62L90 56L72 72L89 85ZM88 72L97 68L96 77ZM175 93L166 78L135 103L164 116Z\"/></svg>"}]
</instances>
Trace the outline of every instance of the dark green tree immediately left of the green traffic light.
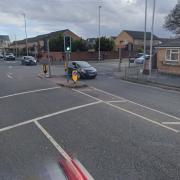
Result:
<instances>
[{"instance_id":1,"label":"dark green tree immediately left of the green traffic light","mask_svg":"<svg viewBox=\"0 0 180 180\"><path fill-rule=\"evenodd\" d=\"M58 34L56 37L50 38L49 49L50 51L64 51L64 37L62 33Z\"/></svg>"}]
</instances>

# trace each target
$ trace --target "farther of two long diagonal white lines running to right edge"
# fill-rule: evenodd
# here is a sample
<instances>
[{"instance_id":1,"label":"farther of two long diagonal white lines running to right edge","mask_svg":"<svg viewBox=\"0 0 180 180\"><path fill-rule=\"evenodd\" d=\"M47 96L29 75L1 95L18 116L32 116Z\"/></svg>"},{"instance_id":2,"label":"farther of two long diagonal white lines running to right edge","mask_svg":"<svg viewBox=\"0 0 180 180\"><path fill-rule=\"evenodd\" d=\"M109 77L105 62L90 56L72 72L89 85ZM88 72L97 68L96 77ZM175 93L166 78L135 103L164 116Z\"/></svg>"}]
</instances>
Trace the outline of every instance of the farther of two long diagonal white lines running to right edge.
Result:
<instances>
[{"instance_id":1,"label":"farther of two long diagonal white lines running to right edge","mask_svg":"<svg viewBox=\"0 0 180 180\"><path fill-rule=\"evenodd\" d=\"M176 116L173 116L173 115L167 114L167 113L162 112L162 111L159 111L159 110L157 110L157 109L153 109L153 108L147 107L147 106L145 106L145 105L142 105L142 104L136 103L136 102L134 102L134 101L131 101L131 100L125 99L125 98L123 98L123 97L116 96L116 95L114 95L114 94L112 94L112 93L109 93L109 92L103 91L103 90L101 90L101 89L97 89L97 88L95 88L95 87L92 87L92 88L93 88L93 89L95 89L95 90L97 90L97 91L103 92L103 93L105 93L105 94L108 94L108 95L114 96L114 97L116 97L116 98L122 98L122 99L124 99L124 100L126 100L127 102L130 102L130 103L132 103L132 104L135 104L135 105L141 106L141 107L143 107L143 108L149 109L149 110L151 110L151 111L154 111L154 112L157 112L157 113L163 114L163 115L165 115L165 116L168 116L168 117L170 117L170 118L174 118L174 119L176 119L176 120L180 121L180 118L179 118L179 117L176 117Z\"/></svg>"}]
</instances>

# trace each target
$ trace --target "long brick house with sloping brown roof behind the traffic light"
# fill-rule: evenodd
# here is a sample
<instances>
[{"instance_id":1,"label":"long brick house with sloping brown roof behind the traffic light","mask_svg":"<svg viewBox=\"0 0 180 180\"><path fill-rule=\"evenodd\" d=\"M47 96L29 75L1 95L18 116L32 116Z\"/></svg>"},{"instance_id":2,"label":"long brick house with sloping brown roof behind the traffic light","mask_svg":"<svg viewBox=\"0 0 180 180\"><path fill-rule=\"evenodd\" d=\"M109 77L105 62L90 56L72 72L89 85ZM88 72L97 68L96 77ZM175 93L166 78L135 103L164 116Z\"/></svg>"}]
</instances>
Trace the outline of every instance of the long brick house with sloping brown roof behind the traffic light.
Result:
<instances>
[{"instance_id":1,"label":"long brick house with sloping brown roof behind the traffic light","mask_svg":"<svg viewBox=\"0 0 180 180\"><path fill-rule=\"evenodd\" d=\"M47 51L47 43L46 43L47 40L50 38L58 36L60 33L63 36L70 36L73 40L80 40L81 39L78 35L76 35L72 31L70 31L69 29L55 31L55 32L51 32L51 33L43 34L43 35L38 35L36 37L32 37L32 38L27 39L29 52L35 51L35 48L38 49L39 51ZM14 41L10 45L10 48L14 49L14 50L17 48L18 51L25 50L26 39L20 40L20 41Z\"/></svg>"}]
</instances>

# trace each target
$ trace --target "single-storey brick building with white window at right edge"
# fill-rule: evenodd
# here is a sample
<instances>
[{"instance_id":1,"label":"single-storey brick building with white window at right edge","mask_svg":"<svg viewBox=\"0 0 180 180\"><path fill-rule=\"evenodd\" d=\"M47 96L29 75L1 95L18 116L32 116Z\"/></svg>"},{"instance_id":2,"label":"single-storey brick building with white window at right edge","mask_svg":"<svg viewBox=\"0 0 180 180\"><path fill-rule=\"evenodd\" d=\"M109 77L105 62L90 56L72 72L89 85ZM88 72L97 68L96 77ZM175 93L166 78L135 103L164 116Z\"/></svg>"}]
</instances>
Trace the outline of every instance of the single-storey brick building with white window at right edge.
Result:
<instances>
[{"instance_id":1,"label":"single-storey brick building with white window at right edge","mask_svg":"<svg viewBox=\"0 0 180 180\"><path fill-rule=\"evenodd\" d=\"M156 48L158 71L180 75L180 39L166 39Z\"/></svg>"}]
</instances>

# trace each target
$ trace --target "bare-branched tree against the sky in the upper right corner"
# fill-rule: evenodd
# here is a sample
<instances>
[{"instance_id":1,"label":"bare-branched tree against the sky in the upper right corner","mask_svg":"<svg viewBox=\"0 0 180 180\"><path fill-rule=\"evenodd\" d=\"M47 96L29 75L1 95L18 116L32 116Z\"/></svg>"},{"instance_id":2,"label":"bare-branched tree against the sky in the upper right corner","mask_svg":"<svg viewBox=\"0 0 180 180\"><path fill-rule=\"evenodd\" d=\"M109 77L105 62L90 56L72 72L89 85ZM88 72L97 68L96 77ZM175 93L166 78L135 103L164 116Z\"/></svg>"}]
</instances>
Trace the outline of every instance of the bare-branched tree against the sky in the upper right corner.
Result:
<instances>
[{"instance_id":1,"label":"bare-branched tree against the sky in the upper right corner","mask_svg":"<svg viewBox=\"0 0 180 180\"><path fill-rule=\"evenodd\" d=\"M180 3L165 17L163 27L175 34L180 34Z\"/></svg>"}]
</instances>

